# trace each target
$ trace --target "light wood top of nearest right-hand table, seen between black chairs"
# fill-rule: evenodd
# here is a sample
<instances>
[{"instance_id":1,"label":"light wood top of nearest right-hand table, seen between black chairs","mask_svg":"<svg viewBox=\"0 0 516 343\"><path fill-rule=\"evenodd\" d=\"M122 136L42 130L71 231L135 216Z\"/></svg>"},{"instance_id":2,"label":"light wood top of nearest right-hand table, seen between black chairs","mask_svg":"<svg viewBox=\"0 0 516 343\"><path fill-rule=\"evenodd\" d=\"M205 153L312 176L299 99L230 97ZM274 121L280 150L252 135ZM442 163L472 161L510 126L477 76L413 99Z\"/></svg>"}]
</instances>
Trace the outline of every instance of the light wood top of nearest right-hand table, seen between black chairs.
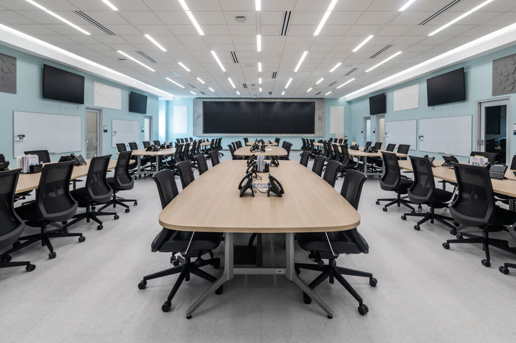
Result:
<instances>
[{"instance_id":1,"label":"light wood top of nearest right-hand table, seen between black chairs","mask_svg":"<svg viewBox=\"0 0 516 343\"><path fill-rule=\"evenodd\" d=\"M398 161L398 163L401 169L414 171L412 169L412 164L410 163L410 160ZM441 164L443 163L444 161L433 161L433 164L436 166L435 168L432 168L433 176L437 179L445 180L448 182L457 182L454 169L441 167ZM505 172L505 177L508 180L491 179L491 183L493 184L493 191L495 193L516 197L516 177L514 176L514 173L512 173L513 171L516 170L507 169L507 171Z\"/></svg>"}]
</instances>

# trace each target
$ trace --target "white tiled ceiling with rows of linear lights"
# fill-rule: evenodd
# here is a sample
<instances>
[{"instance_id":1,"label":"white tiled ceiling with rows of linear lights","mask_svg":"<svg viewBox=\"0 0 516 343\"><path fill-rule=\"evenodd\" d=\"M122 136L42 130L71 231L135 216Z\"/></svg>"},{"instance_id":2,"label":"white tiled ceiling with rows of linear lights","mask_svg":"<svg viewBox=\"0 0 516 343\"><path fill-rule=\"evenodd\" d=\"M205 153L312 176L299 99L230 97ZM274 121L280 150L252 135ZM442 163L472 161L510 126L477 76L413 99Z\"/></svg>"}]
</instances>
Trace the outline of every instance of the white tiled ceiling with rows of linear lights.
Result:
<instances>
[{"instance_id":1,"label":"white tiled ceiling with rows of linear lights","mask_svg":"<svg viewBox=\"0 0 516 343\"><path fill-rule=\"evenodd\" d=\"M262 97L280 97L291 77L294 79L284 97L341 97L516 22L516 1L495 0L428 37L428 33L485 0L461 0L425 25L418 24L451 0L418 0L404 12L397 10L407 0L340 0L320 35L313 36L330 0L262 0L261 12L254 10L254 0L186 0L205 33L200 36L177 0L110 0L119 11L110 10L101 0L35 1L87 30L91 36L24 0L0 0L0 23L179 97L195 97L190 91L203 97L238 97L228 76L240 97L260 97L259 58L263 65ZM88 23L74 13L75 10L83 11L116 36L107 35ZM293 11L291 25L287 35L280 36L284 11ZM236 16L245 16L246 22L237 23ZM262 52L258 53L256 35L260 32ZM167 52L158 49L144 34L151 35ZM375 37L352 53L351 50L369 35ZM376 58L370 58L389 44L393 46ZM155 72L133 61L120 61L125 57L117 50L152 67ZM159 63L151 63L136 53L138 50ZM228 76L221 71L211 50L217 53ZM294 73L305 50L309 53L299 71ZM239 63L233 63L231 51L236 52ZM365 73L369 67L398 51L403 53ZM177 62L184 63L191 72ZM342 65L329 73L339 62ZM358 69L351 75L344 75L355 67ZM168 71L182 78L176 79ZM276 79L271 78L272 72L278 73ZM185 88L169 82L166 77ZM205 84L199 82L198 77ZM316 85L323 77L325 79ZM336 89L353 77L356 80ZM336 83L328 87L334 81ZM191 88L187 82L196 88ZM247 83L248 89L244 89L242 83ZM307 93L309 88L313 90ZM331 94L324 96L330 91ZM272 95L268 95L269 92ZM316 96L318 92L321 93Z\"/></svg>"}]
</instances>

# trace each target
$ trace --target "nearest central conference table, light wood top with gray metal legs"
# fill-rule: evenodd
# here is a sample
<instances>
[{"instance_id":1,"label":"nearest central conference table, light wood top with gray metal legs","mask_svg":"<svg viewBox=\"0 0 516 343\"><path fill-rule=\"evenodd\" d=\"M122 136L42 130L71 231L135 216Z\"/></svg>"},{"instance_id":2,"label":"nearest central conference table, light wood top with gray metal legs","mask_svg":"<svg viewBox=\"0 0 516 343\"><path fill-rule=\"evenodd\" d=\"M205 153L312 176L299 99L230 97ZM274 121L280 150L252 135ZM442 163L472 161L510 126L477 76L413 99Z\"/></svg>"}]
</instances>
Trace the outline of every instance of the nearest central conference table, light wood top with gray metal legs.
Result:
<instances>
[{"instance_id":1,"label":"nearest central conference table, light wood top with gray metal legs","mask_svg":"<svg viewBox=\"0 0 516 343\"><path fill-rule=\"evenodd\" d=\"M225 235L222 276L188 308L186 317L191 318L193 312L217 288L233 279L235 275L283 275L308 294L331 318L333 312L330 307L294 271L294 234L350 230L360 224L359 213L335 188L307 167L294 161L282 161L279 167L270 170L284 188L285 194L282 197L267 197L260 192L253 197L250 191L240 197L237 186L245 176L246 169L246 161L232 160L219 163L184 188L159 214L159 224L164 228L193 232L224 232ZM268 180L267 173L259 175L263 180L256 182ZM233 245L234 235L238 233L284 234L285 265L235 266Z\"/></svg>"}]
</instances>

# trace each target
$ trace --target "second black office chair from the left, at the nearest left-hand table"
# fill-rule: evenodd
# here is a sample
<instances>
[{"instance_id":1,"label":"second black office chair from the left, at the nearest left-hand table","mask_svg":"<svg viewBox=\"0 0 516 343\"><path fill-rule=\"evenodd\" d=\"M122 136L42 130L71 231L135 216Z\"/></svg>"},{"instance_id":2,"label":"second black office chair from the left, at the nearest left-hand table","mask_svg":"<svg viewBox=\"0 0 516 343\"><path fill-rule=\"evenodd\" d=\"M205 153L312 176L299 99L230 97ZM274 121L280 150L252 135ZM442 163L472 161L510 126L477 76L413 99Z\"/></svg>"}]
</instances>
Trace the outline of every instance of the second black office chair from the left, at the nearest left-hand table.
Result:
<instances>
[{"instance_id":1,"label":"second black office chair from the left, at the nearest left-hand table","mask_svg":"<svg viewBox=\"0 0 516 343\"><path fill-rule=\"evenodd\" d=\"M51 223L66 222L73 218L77 212L77 202L70 194L70 178L74 162L60 162L47 164L41 171L36 201L21 205L15 209L16 213L30 227L40 227L38 234L18 238L12 245L13 248L5 254L20 250L26 246L41 241L49 249L49 259L56 257L50 238L78 237L78 241L84 242L82 233L70 233L65 228L47 230ZM20 241L25 241L21 243Z\"/></svg>"}]
</instances>

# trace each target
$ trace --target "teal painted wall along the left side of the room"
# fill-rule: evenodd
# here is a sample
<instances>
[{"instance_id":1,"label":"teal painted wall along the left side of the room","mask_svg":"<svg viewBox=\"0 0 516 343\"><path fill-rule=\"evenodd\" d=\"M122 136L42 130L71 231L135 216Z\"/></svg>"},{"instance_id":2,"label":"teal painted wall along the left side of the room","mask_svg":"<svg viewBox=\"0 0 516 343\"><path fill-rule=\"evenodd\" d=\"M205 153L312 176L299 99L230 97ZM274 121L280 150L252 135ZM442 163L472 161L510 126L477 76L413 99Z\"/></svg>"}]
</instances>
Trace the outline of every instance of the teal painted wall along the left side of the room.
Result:
<instances>
[{"instance_id":1,"label":"teal painted wall along the left side of the room","mask_svg":"<svg viewBox=\"0 0 516 343\"><path fill-rule=\"evenodd\" d=\"M85 155L85 112L86 107L96 108L93 106L93 81L98 81L122 90L122 109L114 110L108 108L102 109L102 125L108 127L107 133L102 133L102 152L103 154L116 153L117 149L111 147L111 119L128 119L140 121L140 127L143 127L143 114L129 112L129 94L131 89L111 82L100 77L96 77L82 71L74 70L67 66L61 66L58 63L44 60L42 58L25 54L15 49L11 49L0 45L0 53L16 57L17 59L17 94L9 94L0 92L0 153L3 153L7 160L11 161L11 165L15 165L13 156L13 111L39 112L51 114L78 115L82 119L82 150L80 153ZM70 102L43 99L43 64L49 64L54 67L60 67L63 70L85 76L84 82L84 105L72 104ZM139 93L146 94L139 90ZM147 115L152 116L152 136L153 139L158 137L158 97L148 95ZM140 134L140 141L137 142L142 146L143 133ZM127 142L128 143L128 142ZM41 147L45 149L45 147ZM76 154L79 152L75 152ZM59 160L59 157L65 154L52 155L52 161Z\"/></svg>"}]
</instances>

